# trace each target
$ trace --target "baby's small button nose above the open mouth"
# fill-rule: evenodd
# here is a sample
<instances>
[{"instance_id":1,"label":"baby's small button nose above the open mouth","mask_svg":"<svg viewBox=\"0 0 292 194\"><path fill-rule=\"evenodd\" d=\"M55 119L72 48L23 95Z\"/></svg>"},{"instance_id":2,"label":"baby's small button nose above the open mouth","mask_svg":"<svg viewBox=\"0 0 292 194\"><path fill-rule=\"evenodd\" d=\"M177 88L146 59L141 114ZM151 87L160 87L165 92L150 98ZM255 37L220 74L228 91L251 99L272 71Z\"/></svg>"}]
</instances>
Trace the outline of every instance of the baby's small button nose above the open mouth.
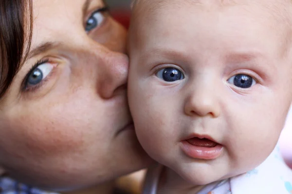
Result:
<instances>
[{"instance_id":1,"label":"baby's small button nose above the open mouth","mask_svg":"<svg viewBox=\"0 0 292 194\"><path fill-rule=\"evenodd\" d=\"M188 116L218 117L220 107L214 89L208 86L195 87L189 90L185 99L184 113Z\"/></svg>"}]
</instances>

